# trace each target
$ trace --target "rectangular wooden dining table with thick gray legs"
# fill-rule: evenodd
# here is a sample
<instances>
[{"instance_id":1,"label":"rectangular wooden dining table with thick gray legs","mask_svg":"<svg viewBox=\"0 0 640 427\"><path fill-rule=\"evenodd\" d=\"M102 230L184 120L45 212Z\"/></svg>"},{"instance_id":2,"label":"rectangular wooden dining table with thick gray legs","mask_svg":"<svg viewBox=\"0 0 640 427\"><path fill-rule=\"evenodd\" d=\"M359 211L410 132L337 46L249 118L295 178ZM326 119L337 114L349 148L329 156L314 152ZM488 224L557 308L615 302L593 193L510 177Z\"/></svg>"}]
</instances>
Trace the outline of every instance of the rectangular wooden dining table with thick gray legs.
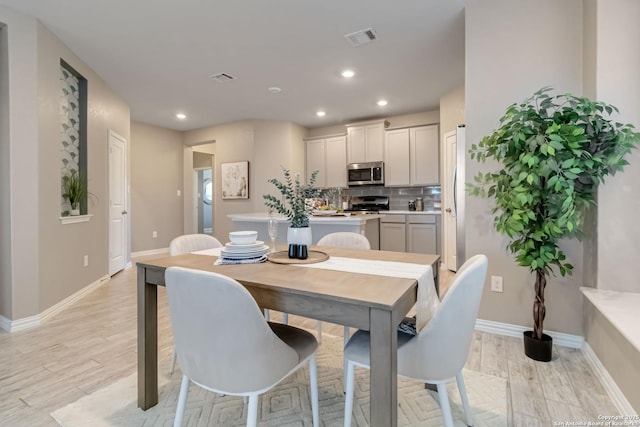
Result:
<instances>
[{"instance_id":1,"label":"rectangular wooden dining table with thick gray legs","mask_svg":"<svg viewBox=\"0 0 640 427\"><path fill-rule=\"evenodd\" d=\"M278 249L286 249L281 245ZM375 261L380 265L409 263L431 266L436 290L440 256L404 252L311 246L331 257ZM414 307L416 278L299 268L295 264L214 265L217 257L203 254L162 256L137 262L138 407L158 403L158 287L164 273L179 266L212 271L240 282L263 309L305 316L367 330L371 336L370 425L397 426L397 327ZM396 276L396 277L394 277Z\"/></svg>"}]
</instances>

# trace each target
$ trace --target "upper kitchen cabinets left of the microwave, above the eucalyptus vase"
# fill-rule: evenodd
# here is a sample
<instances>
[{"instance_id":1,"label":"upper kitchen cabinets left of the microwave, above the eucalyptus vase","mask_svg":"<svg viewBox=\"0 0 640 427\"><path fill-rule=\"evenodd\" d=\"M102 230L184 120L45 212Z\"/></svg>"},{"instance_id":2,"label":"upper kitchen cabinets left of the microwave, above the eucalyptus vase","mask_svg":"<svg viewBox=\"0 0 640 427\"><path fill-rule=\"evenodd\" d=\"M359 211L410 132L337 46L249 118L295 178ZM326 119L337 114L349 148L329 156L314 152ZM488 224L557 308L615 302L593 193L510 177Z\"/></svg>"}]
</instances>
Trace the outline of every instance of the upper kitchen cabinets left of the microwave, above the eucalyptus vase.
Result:
<instances>
[{"instance_id":1,"label":"upper kitchen cabinets left of the microwave, above the eucalyptus vase","mask_svg":"<svg viewBox=\"0 0 640 427\"><path fill-rule=\"evenodd\" d=\"M306 141L307 182L319 170L316 187L347 186L347 138L344 135Z\"/></svg>"}]
</instances>

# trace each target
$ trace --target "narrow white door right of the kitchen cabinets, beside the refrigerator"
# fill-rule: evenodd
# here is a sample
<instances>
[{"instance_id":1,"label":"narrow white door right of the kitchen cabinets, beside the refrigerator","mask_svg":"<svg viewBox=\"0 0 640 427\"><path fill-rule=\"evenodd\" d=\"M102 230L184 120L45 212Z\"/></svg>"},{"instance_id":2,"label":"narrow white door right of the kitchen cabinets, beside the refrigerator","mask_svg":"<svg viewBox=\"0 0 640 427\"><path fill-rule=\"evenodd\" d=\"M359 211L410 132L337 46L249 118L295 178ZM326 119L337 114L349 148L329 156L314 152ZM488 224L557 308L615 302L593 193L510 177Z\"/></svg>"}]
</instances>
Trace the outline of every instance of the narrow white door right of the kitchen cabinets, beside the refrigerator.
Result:
<instances>
[{"instance_id":1,"label":"narrow white door right of the kitchen cabinets, beside the refrigerator","mask_svg":"<svg viewBox=\"0 0 640 427\"><path fill-rule=\"evenodd\" d=\"M445 267L457 270L456 263L456 207L454 199L456 174L456 131L444 135L444 171L442 182L442 227Z\"/></svg>"}]
</instances>

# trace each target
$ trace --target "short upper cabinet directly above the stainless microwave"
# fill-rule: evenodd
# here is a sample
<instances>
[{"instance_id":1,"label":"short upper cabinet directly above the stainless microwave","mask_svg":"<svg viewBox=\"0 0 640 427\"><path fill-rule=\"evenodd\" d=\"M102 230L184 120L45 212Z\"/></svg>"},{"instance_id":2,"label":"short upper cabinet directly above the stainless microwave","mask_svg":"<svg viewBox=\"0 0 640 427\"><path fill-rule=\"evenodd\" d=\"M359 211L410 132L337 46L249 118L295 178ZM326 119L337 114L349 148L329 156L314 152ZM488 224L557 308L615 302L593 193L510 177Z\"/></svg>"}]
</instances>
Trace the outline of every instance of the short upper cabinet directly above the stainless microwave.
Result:
<instances>
[{"instance_id":1,"label":"short upper cabinet directly above the stainless microwave","mask_svg":"<svg viewBox=\"0 0 640 427\"><path fill-rule=\"evenodd\" d=\"M386 120L347 125L347 163L383 161L387 126Z\"/></svg>"}]
</instances>

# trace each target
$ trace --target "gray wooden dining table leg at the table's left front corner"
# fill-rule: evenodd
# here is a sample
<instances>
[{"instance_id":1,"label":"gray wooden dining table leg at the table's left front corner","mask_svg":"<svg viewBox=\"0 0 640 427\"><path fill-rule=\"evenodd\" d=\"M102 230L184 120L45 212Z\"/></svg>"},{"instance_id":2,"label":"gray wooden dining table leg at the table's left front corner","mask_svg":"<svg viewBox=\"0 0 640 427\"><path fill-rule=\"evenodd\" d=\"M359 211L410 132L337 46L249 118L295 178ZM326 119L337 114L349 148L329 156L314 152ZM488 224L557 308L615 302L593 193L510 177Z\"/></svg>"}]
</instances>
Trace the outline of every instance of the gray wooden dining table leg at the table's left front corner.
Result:
<instances>
[{"instance_id":1,"label":"gray wooden dining table leg at the table's left front corner","mask_svg":"<svg viewBox=\"0 0 640 427\"><path fill-rule=\"evenodd\" d=\"M158 287L138 267L138 407L158 403Z\"/></svg>"}]
</instances>

